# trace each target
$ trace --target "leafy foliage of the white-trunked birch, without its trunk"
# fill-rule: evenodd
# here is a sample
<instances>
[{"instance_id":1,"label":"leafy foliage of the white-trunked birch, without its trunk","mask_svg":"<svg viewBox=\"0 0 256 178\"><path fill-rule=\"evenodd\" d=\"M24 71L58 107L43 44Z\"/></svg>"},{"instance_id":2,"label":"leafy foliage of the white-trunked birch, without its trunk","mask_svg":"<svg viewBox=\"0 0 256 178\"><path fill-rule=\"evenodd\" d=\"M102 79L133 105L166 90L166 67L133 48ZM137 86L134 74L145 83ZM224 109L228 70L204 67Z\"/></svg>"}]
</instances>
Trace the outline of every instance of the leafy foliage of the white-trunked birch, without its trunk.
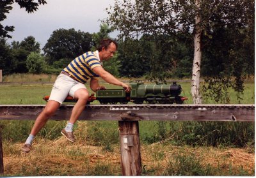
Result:
<instances>
[{"instance_id":1,"label":"leafy foliage of the white-trunked birch, without its trunk","mask_svg":"<svg viewBox=\"0 0 256 178\"><path fill-rule=\"evenodd\" d=\"M235 84L230 86L238 93L242 93L244 71L253 71L254 68L255 3L253 0L200 0L198 3L196 4L194 0L116 0L114 6L106 9L109 17L104 22L120 31L120 38L140 38L144 34L156 34L157 36L161 34L170 35L173 40L179 40L177 34L182 33L188 38L189 36L193 38L198 29L201 35L195 40L200 41L200 50L203 54L205 55L205 51L207 53L207 56L203 56L205 61L202 61L202 64L211 63L212 67L216 61L220 62L214 70L204 70L204 77L223 78L224 75L228 76L228 82L231 82L230 76L235 77ZM195 26L196 17L200 17L200 21ZM193 40L190 41L193 42ZM172 43L166 41L166 45L162 45L162 47L170 47L170 45ZM216 47L216 45L219 46ZM163 56L158 57L164 59ZM172 57L170 56L170 58ZM156 63L151 63L157 64L157 66L150 66L152 76L159 71L160 59L155 58ZM200 63L201 59L198 65ZM239 65L241 63L244 65ZM228 68L226 68L227 66ZM198 70L200 72L200 68ZM166 70L163 70L163 73L164 71ZM228 73L228 71L230 72ZM163 75L159 75L159 77L163 77ZM211 81L213 82L209 82L209 89L212 88L212 85L225 80Z\"/></svg>"}]
</instances>

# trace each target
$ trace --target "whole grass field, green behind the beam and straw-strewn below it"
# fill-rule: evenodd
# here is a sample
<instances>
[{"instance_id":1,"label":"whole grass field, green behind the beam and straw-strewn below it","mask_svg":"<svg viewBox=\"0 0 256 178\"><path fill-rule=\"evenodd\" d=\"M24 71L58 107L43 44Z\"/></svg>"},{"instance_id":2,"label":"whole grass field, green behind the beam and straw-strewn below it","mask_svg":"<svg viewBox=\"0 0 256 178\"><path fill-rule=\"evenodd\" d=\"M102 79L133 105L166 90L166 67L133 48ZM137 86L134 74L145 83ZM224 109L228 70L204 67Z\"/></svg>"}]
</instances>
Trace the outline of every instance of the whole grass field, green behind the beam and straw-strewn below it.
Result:
<instances>
[{"instance_id":1,"label":"whole grass field, green behind the beam and straw-strewn below it","mask_svg":"<svg viewBox=\"0 0 256 178\"><path fill-rule=\"evenodd\" d=\"M42 82L55 78L12 75L4 77L4 81ZM192 103L190 82L180 84L182 96L189 98L186 103ZM0 85L0 104L45 104L42 98L50 94L51 87ZM254 103L254 91L254 82L246 82L241 103ZM237 103L232 91L230 103ZM4 176L122 174L118 122L77 121L74 131L77 142L70 144L60 134L66 122L49 121L38 133L29 154L20 153L20 147L33 121L1 121L1 124ZM143 175L255 175L254 123L140 121L140 138ZM212 146L213 142L216 145Z\"/></svg>"}]
</instances>

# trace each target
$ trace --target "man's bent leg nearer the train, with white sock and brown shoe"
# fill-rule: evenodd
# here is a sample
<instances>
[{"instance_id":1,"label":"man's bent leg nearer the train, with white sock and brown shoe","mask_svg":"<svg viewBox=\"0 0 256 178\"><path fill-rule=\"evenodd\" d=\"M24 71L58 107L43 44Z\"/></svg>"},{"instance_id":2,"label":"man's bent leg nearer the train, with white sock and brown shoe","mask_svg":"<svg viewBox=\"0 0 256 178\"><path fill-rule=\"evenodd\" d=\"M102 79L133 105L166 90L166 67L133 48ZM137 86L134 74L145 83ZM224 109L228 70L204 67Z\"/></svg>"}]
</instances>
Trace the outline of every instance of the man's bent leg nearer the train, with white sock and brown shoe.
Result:
<instances>
[{"instance_id":1,"label":"man's bent leg nearer the train, with white sock and brown shoe","mask_svg":"<svg viewBox=\"0 0 256 178\"><path fill-rule=\"evenodd\" d=\"M87 89L77 89L77 91L74 93L74 98L77 99L76 105L74 105L74 108L72 109L72 113L70 115L67 126L65 127L65 129L61 130L61 134L64 135L71 142L75 142L72 131L73 125L77 121L79 115L81 115L81 113L83 112L89 98L89 93Z\"/></svg>"}]
</instances>

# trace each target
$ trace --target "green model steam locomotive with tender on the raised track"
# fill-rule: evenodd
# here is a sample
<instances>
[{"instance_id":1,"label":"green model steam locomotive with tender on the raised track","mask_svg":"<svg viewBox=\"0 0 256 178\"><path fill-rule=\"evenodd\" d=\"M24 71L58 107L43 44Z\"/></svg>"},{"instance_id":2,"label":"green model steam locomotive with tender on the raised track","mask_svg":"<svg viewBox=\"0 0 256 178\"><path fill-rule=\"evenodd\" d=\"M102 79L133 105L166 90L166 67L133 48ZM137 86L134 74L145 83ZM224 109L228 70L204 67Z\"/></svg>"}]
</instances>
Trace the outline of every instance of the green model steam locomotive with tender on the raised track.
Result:
<instances>
[{"instance_id":1,"label":"green model steam locomotive with tender on the raised track","mask_svg":"<svg viewBox=\"0 0 256 178\"><path fill-rule=\"evenodd\" d=\"M99 90L96 92L96 97L92 94L88 100L91 103L94 100L98 100L100 104L127 104L132 102L135 104L146 103L155 104L182 104L188 98L180 96L182 91L180 85L176 82L173 84L142 84L142 83L131 83L131 91L125 93L124 89L106 89ZM44 100L47 101L49 96L45 96ZM74 102L72 97L68 96L65 102Z\"/></svg>"}]
</instances>

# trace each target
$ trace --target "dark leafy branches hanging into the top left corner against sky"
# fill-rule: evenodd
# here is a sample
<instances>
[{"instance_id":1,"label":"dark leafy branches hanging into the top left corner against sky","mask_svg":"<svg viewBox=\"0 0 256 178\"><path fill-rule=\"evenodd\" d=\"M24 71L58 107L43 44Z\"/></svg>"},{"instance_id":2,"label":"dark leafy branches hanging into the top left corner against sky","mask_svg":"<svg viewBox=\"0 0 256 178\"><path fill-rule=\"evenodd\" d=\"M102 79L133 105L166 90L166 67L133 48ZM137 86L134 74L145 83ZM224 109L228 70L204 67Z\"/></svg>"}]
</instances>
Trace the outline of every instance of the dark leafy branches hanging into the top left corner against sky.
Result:
<instances>
[{"instance_id":1,"label":"dark leafy branches hanging into the top left corner against sky","mask_svg":"<svg viewBox=\"0 0 256 178\"><path fill-rule=\"evenodd\" d=\"M12 10L12 4L18 3L20 8L25 8L28 13L32 13L36 10L38 10L38 6L40 4L46 4L45 0L3 0L0 1L0 22L2 22L4 19L6 19L6 13L9 13L10 10ZM3 26L0 24L0 38L12 38L9 32L12 32L14 30L13 26Z\"/></svg>"}]
</instances>

